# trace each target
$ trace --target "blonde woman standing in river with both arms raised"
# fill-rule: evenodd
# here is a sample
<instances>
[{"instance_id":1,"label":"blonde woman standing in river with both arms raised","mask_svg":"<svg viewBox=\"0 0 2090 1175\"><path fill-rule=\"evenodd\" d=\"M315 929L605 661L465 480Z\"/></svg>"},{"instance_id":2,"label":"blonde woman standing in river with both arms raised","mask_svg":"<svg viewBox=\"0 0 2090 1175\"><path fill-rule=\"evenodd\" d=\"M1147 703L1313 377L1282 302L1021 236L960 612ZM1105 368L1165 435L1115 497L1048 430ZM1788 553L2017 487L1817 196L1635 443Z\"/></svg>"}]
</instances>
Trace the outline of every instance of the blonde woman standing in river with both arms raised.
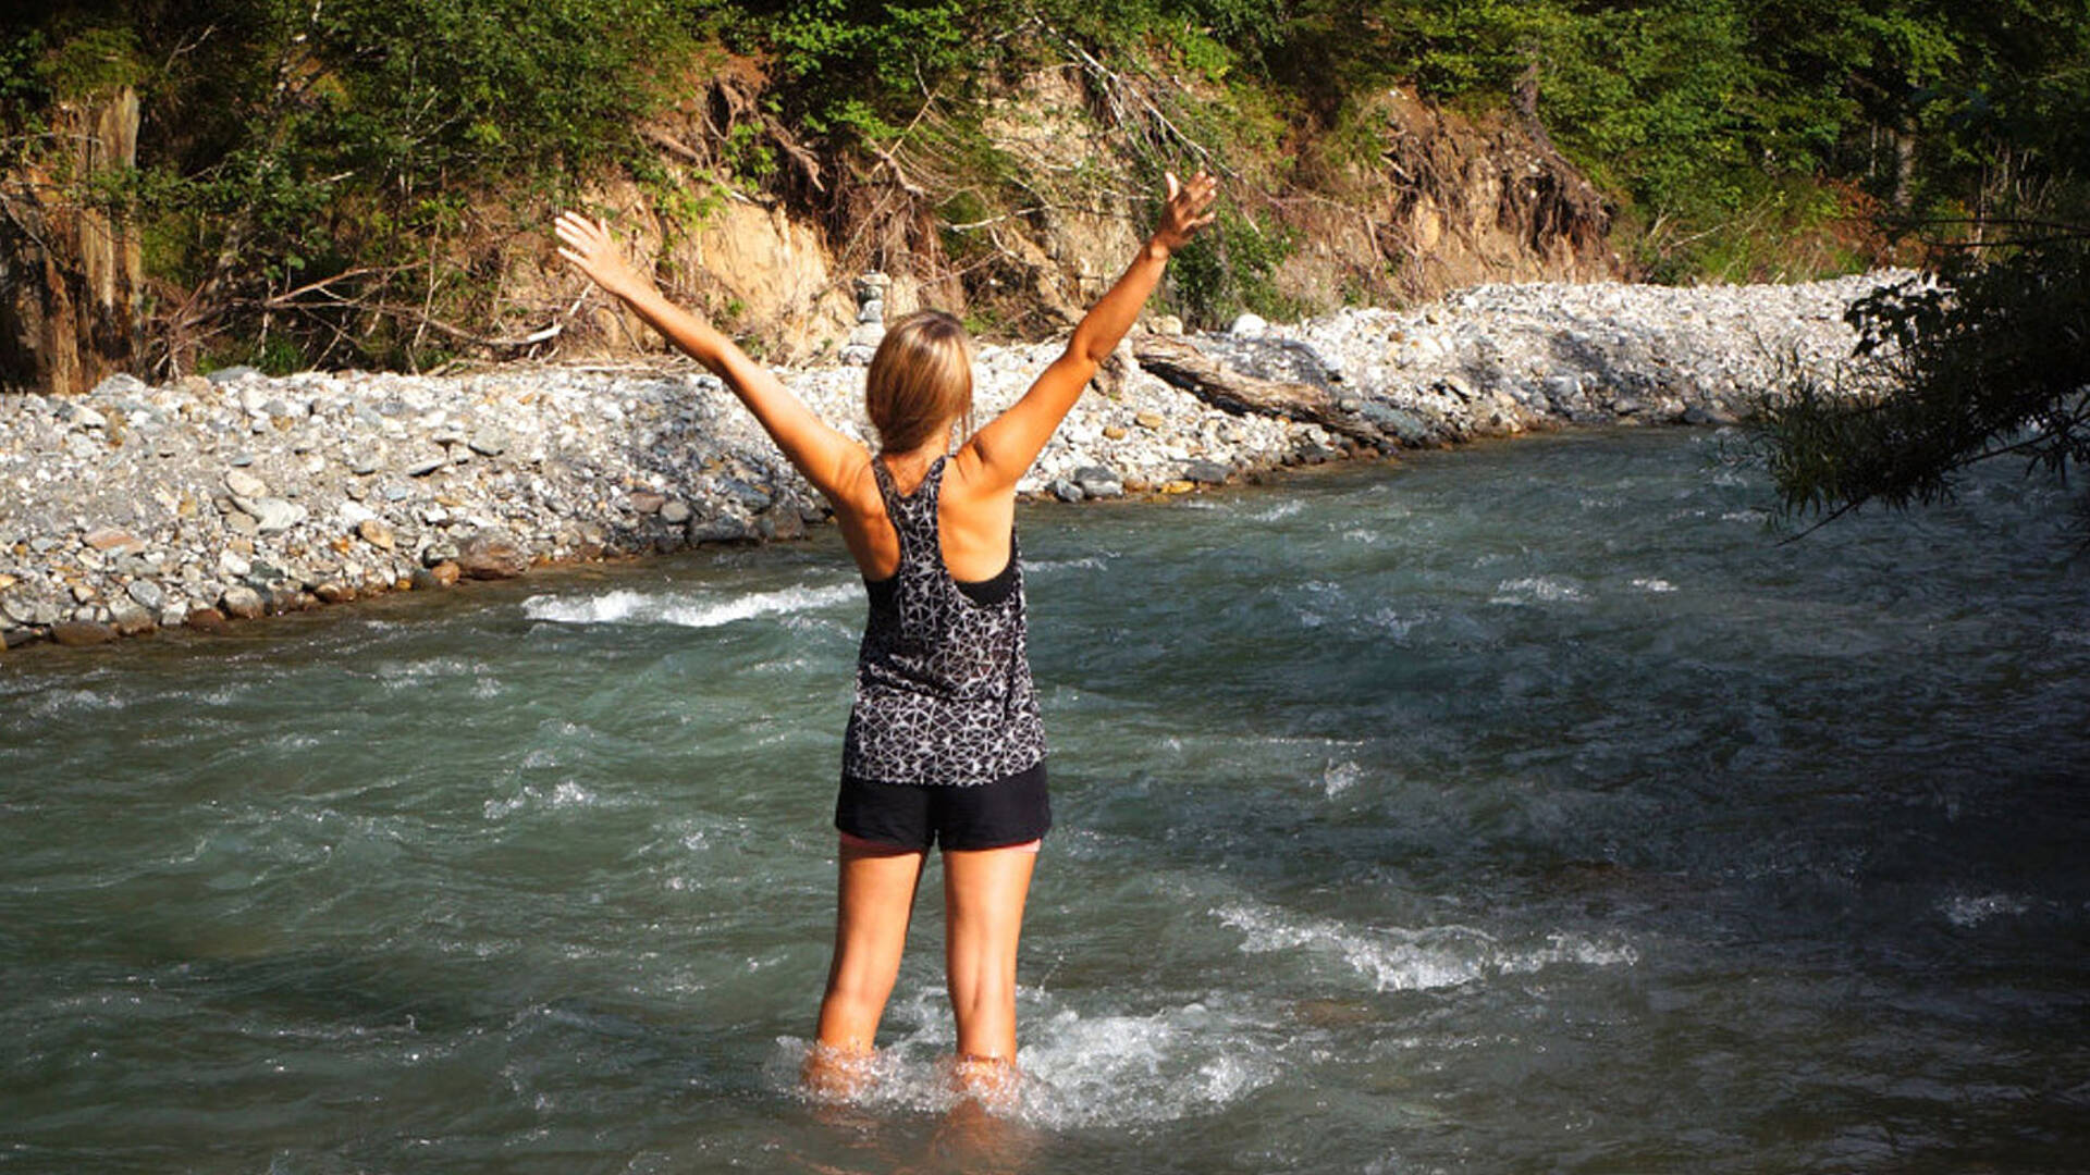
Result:
<instances>
[{"instance_id":1,"label":"blonde woman standing in river with both arms raised","mask_svg":"<svg viewBox=\"0 0 2090 1175\"><path fill-rule=\"evenodd\" d=\"M1162 224L1007 412L970 437L972 343L955 318L892 324L865 374L878 454L633 270L608 230L558 217L560 257L725 381L834 506L872 596L842 755L834 962L807 1085L851 1093L899 976L915 882L945 853L945 966L957 1077L991 1091L1016 1062L1016 941L1051 824L1024 659L1016 483L1131 328L1168 255L1210 224L1216 180L1168 176ZM955 452L953 452L955 445Z\"/></svg>"}]
</instances>

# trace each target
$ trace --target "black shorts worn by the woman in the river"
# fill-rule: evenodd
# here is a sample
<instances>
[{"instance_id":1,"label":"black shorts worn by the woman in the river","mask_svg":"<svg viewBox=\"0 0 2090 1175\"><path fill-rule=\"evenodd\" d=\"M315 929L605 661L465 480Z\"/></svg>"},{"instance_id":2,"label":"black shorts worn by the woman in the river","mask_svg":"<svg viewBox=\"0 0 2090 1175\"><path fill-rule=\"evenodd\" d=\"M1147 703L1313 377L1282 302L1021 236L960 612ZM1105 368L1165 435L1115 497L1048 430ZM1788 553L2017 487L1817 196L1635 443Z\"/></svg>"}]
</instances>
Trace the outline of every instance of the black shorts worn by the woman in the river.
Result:
<instances>
[{"instance_id":1,"label":"black shorts worn by the woman in the river","mask_svg":"<svg viewBox=\"0 0 2090 1175\"><path fill-rule=\"evenodd\" d=\"M842 776L834 826L899 849L1001 849L1051 828L1045 761L993 784L878 784Z\"/></svg>"}]
</instances>

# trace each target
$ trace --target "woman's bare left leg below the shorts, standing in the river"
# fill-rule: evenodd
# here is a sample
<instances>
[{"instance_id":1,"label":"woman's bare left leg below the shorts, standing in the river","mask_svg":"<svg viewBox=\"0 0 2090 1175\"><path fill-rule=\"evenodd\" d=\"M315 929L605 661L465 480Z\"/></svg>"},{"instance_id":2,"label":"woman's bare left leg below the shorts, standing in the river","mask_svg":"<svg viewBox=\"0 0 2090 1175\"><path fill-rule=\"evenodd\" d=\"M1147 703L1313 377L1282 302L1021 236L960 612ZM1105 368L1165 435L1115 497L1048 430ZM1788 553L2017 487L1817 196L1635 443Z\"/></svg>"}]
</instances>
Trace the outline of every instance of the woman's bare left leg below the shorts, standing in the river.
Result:
<instances>
[{"instance_id":1,"label":"woman's bare left leg below the shorts, standing in the river","mask_svg":"<svg viewBox=\"0 0 2090 1175\"><path fill-rule=\"evenodd\" d=\"M928 853L842 843L836 886L834 962L819 1001L819 1031L805 1064L817 1093L851 1096L872 1056L878 1020L907 949L915 884ZM857 1064L853 1064L857 1062Z\"/></svg>"}]
</instances>

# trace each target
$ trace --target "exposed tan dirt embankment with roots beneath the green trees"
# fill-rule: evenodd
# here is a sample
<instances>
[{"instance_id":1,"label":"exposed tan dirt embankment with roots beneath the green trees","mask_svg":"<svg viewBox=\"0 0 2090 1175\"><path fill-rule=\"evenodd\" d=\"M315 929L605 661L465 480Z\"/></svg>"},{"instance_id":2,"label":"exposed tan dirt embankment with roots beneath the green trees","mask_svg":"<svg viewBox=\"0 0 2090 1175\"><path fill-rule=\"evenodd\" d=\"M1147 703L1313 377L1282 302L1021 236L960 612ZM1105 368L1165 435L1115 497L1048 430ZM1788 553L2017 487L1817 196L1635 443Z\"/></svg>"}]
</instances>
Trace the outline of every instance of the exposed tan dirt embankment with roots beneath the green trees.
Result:
<instances>
[{"instance_id":1,"label":"exposed tan dirt embankment with roots beneath the green trees","mask_svg":"<svg viewBox=\"0 0 2090 1175\"><path fill-rule=\"evenodd\" d=\"M1129 82L1068 65L968 111L930 105L890 148L819 153L765 111L765 86L748 63L694 79L644 128L656 176L600 184L589 203L656 263L671 297L773 362L842 353L861 335L851 282L865 272L890 276L888 318L938 305L989 337L1066 330L1152 226L1141 176L1156 151L1183 167L1202 155L1227 176L1248 232L1273 245L1221 263L1260 270L1264 297L1298 314L1407 305L1476 282L1628 276L1599 192L1513 111L1463 115L1396 90L1371 100L1346 148L1313 130L1233 148L1179 128L1170 140ZM481 249L472 270L500 274L483 307L500 332L558 328L510 355L663 345L600 295L579 297L531 226L487 232Z\"/></svg>"}]
</instances>

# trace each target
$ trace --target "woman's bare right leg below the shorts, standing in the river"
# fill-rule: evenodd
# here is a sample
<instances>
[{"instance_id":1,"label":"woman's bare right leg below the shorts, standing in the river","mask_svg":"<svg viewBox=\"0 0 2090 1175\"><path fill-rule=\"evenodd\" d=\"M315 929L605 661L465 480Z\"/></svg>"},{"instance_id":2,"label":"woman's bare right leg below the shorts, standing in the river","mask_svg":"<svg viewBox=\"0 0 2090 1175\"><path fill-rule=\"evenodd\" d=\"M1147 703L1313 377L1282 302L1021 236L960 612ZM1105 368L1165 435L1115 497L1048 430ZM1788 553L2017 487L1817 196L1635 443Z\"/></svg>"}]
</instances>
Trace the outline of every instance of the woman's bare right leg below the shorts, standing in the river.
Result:
<instances>
[{"instance_id":1,"label":"woman's bare right leg below the shorts, standing in the river","mask_svg":"<svg viewBox=\"0 0 2090 1175\"><path fill-rule=\"evenodd\" d=\"M1037 851L974 849L943 855L945 968L957 1014L959 1081L995 1091L1016 1066L1016 941Z\"/></svg>"}]
</instances>

